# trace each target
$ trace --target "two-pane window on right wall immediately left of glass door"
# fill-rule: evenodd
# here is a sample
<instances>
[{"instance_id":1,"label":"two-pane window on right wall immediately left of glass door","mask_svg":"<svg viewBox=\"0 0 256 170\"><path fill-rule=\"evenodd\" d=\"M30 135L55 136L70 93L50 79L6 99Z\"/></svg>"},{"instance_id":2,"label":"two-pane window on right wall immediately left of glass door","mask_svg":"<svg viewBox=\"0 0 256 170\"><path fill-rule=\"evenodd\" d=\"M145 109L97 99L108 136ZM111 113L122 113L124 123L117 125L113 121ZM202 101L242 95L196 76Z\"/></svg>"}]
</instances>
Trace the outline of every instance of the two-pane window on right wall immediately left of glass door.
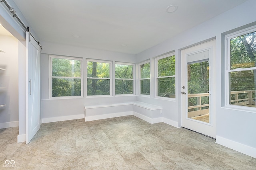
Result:
<instances>
[{"instance_id":1,"label":"two-pane window on right wall immediately left of glass door","mask_svg":"<svg viewBox=\"0 0 256 170\"><path fill-rule=\"evenodd\" d=\"M175 55L156 59L156 96L175 98Z\"/></svg>"}]
</instances>

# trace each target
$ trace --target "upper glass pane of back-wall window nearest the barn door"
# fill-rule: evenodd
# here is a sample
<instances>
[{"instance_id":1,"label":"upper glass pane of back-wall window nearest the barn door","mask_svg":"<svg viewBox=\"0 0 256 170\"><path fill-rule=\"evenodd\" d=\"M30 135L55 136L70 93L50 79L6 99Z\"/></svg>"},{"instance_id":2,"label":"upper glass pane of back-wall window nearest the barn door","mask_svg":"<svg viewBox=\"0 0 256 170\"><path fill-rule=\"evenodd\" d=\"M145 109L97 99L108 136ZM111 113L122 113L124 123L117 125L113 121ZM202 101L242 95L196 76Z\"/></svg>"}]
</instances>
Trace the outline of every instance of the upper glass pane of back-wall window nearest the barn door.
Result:
<instances>
[{"instance_id":1,"label":"upper glass pane of back-wall window nearest the barn door","mask_svg":"<svg viewBox=\"0 0 256 170\"><path fill-rule=\"evenodd\" d=\"M81 61L52 58L52 76L81 77Z\"/></svg>"}]
</instances>

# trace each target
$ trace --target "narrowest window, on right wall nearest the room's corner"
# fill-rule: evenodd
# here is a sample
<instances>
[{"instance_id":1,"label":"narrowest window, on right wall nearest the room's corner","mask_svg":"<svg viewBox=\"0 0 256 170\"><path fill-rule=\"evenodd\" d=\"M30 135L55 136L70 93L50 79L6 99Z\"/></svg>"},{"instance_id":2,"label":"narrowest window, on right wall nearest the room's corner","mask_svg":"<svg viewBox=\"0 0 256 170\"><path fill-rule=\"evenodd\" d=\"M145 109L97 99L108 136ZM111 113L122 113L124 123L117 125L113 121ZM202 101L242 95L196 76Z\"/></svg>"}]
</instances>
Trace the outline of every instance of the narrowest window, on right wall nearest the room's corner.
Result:
<instances>
[{"instance_id":1,"label":"narrowest window, on right wall nearest the room's corner","mask_svg":"<svg viewBox=\"0 0 256 170\"><path fill-rule=\"evenodd\" d=\"M140 64L140 94L150 95L150 63Z\"/></svg>"}]
</instances>

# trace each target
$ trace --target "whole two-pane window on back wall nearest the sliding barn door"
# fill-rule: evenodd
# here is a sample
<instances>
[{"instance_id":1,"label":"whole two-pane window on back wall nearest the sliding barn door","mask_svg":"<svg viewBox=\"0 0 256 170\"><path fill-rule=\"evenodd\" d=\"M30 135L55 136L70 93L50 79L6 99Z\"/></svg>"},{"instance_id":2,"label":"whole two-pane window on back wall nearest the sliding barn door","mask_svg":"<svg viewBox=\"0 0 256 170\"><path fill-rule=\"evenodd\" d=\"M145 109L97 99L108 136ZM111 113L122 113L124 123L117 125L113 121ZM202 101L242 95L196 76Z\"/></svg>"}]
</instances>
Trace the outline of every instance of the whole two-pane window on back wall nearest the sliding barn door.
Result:
<instances>
[{"instance_id":1,"label":"whole two-pane window on back wall nearest the sliding barn door","mask_svg":"<svg viewBox=\"0 0 256 170\"><path fill-rule=\"evenodd\" d=\"M50 56L50 96L82 97L82 63L80 58Z\"/></svg>"}]
</instances>

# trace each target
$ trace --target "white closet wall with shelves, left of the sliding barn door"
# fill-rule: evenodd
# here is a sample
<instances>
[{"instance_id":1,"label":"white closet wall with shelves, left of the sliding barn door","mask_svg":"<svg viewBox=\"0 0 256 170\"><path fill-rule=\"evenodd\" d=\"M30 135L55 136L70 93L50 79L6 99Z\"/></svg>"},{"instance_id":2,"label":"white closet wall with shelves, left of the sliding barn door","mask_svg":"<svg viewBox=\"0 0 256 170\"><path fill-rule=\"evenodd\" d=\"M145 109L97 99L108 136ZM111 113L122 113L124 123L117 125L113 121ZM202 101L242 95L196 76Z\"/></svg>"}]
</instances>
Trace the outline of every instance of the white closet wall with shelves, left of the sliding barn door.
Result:
<instances>
[{"instance_id":1,"label":"white closet wall with shelves, left of the sliding barn door","mask_svg":"<svg viewBox=\"0 0 256 170\"><path fill-rule=\"evenodd\" d=\"M15 37L0 35L0 128L18 126L18 40Z\"/></svg>"}]
</instances>

